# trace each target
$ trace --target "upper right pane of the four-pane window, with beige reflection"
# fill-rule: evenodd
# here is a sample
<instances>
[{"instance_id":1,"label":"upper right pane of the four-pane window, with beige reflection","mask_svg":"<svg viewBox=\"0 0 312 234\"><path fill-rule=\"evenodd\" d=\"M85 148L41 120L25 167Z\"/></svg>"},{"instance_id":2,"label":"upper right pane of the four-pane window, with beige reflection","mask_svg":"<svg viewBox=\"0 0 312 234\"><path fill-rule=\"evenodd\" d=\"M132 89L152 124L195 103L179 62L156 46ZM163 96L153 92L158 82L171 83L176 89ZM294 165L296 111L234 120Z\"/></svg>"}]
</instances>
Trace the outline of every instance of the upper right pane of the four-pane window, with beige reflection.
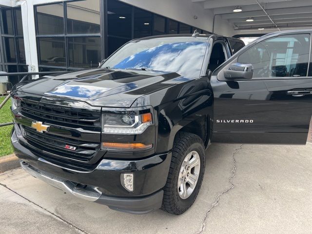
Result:
<instances>
[{"instance_id":1,"label":"upper right pane of the four-pane window, with beige reflection","mask_svg":"<svg viewBox=\"0 0 312 234\"><path fill-rule=\"evenodd\" d=\"M68 34L100 33L99 0L67 2Z\"/></svg>"}]
</instances>

